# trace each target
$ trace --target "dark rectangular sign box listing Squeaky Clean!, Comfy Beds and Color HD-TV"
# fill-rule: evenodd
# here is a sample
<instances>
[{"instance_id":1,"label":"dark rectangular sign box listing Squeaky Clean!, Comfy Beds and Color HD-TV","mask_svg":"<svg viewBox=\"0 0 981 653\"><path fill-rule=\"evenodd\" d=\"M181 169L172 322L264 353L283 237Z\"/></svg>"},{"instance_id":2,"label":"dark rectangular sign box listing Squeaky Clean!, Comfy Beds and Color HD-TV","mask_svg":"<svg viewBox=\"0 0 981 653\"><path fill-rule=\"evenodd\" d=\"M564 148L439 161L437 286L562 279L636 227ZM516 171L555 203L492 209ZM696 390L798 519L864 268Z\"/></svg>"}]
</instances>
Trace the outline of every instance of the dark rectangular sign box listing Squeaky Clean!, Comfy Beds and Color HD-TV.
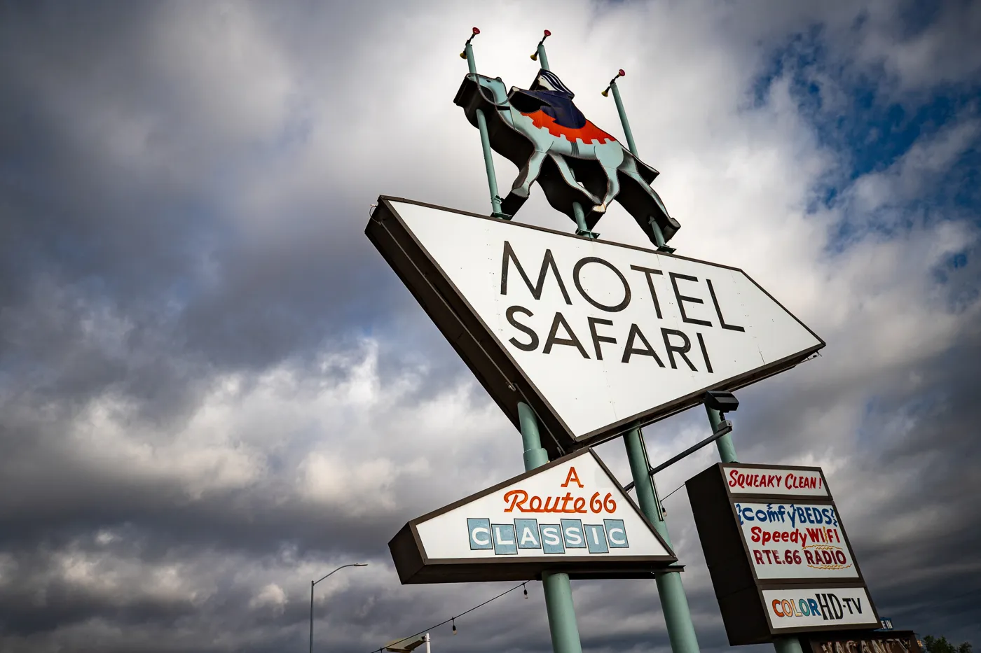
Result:
<instances>
[{"instance_id":1,"label":"dark rectangular sign box listing Squeaky Clean!, Comfy Beds and Color HD-TV","mask_svg":"<svg viewBox=\"0 0 981 653\"><path fill-rule=\"evenodd\" d=\"M820 468L720 463L686 487L730 644L878 625Z\"/></svg>"}]
</instances>

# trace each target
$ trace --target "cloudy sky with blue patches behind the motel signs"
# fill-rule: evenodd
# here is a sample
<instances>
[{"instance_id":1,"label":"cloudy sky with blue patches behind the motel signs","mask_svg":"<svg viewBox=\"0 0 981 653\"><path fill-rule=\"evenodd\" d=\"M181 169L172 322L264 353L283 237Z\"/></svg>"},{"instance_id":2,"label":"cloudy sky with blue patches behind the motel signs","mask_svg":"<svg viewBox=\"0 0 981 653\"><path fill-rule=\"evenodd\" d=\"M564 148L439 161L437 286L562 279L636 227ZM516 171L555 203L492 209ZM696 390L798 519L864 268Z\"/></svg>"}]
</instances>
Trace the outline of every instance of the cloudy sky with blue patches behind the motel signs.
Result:
<instances>
[{"instance_id":1,"label":"cloudy sky with blue patches behind the motel signs","mask_svg":"<svg viewBox=\"0 0 981 653\"><path fill-rule=\"evenodd\" d=\"M508 85L550 29L615 135L626 70L672 244L828 343L740 392L741 459L822 466L880 613L981 644L981 4L10 2L0 650L303 650L310 580L364 561L315 610L320 650L368 653L509 586L395 576L391 535L521 473L521 439L363 233L380 194L489 211L452 104L472 25ZM538 189L519 219L573 229ZM597 230L645 244L618 207ZM645 429L654 459L707 434ZM684 490L665 506L719 650ZM585 650L669 650L652 581L573 588ZM435 650L550 650L529 593Z\"/></svg>"}]
</instances>

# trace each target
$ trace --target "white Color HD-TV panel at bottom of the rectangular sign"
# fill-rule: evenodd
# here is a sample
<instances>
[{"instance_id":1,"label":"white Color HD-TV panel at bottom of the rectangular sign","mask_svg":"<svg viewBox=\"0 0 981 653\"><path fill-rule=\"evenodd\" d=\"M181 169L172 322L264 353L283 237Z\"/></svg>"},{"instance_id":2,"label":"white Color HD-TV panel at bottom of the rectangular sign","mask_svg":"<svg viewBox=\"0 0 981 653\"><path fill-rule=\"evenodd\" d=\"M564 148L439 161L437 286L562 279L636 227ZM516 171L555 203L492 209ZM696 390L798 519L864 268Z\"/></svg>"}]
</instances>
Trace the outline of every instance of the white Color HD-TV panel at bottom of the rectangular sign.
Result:
<instances>
[{"instance_id":1,"label":"white Color HD-TV panel at bottom of the rectangular sign","mask_svg":"<svg viewBox=\"0 0 981 653\"><path fill-rule=\"evenodd\" d=\"M764 589L766 617L773 630L861 626L879 628L864 587Z\"/></svg>"}]
</instances>

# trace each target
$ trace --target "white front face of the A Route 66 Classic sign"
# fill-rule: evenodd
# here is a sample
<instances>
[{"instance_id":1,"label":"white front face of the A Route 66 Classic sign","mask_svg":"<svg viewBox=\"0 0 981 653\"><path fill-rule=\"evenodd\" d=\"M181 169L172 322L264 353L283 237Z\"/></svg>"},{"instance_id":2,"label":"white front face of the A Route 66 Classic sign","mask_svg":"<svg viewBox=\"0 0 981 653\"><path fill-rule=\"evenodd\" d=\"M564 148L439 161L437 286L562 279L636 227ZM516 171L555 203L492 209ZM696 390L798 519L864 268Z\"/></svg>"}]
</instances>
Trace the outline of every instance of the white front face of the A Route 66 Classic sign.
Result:
<instances>
[{"instance_id":1,"label":"white front face of the A Route 66 Classic sign","mask_svg":"<svg viewBox=\"0 0 981 653\"><path fill-rule=\"evenodd\" d=\"M673 556L592 454L416 525L434 559Z\"/></svg>"}]
</instances>

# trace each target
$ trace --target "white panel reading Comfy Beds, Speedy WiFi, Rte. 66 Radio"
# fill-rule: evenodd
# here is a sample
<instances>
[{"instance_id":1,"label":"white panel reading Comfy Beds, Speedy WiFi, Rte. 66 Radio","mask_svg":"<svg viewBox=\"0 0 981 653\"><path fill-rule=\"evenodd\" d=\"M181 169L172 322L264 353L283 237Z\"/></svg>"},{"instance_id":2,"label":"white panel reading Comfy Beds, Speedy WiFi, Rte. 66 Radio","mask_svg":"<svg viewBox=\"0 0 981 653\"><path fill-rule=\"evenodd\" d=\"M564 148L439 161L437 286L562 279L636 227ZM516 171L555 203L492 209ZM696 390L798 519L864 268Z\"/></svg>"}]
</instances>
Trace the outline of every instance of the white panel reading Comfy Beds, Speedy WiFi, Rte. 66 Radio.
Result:
<instances>
[{"instance_id":1,"label":"white panel reading Comfy Beds, Speedy WiFi, Rte. 66 Radio","mask_svg":"<svg viewBox=\"0 0 981 653\"><path fill-rule=\"evenodd\" d=\"M830 505L737 503L756 578L858 578Z\"/></svg>"}]
</instances>

